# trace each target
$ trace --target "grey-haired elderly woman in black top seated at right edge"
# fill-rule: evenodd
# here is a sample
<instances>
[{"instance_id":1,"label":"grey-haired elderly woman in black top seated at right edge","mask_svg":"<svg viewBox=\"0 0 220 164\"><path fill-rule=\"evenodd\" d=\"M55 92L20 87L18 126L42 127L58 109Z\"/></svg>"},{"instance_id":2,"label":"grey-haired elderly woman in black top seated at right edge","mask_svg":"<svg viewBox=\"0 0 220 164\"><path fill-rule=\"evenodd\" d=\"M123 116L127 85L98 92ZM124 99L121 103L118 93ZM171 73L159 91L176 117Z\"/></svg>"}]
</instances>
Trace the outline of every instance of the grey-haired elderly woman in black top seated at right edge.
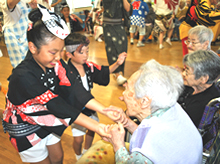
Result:
<instances>
[{"instance_id":1,"label":"grey-haired elderly woman in black top seated at right edge","mask_svg":"<svg viewBox=\"0 0 220 164\"><path fill-rule=\"evenodd\" d=\"M213 51L199 50L184 56L183 64L185 89L178 102L198 127L205 106L220 96L214 84L220 73L220 57Z\"/></svg>"}]
</instances>

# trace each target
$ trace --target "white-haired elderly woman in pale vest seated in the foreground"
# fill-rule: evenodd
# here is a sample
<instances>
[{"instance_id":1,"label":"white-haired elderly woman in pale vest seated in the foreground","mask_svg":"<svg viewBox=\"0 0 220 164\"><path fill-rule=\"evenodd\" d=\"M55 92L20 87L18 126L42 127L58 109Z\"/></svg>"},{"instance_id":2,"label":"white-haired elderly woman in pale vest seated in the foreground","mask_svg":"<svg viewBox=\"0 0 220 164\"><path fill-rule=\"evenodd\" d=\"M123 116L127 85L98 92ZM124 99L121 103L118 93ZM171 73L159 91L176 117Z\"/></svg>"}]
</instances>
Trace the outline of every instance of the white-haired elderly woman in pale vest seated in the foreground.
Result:
<instances>
[{"instance_id":1,"label":"white-haired elderly woman in pale vest seated in the foreground","mask_svg":"<svg viewBox=\"0 0 220 164\"><path fill-rule=\"evenodd\" d=\"M135 72L123 92L131 119L125 127L131 132L130 153L125 149L122 124L109 125L108 141L115 151L116 163L199 164L202 162L202 139L177 99L183 88L181 74L155 60ZM109 107L108 110L117 110Z\"/></svg>"}]
</instances>

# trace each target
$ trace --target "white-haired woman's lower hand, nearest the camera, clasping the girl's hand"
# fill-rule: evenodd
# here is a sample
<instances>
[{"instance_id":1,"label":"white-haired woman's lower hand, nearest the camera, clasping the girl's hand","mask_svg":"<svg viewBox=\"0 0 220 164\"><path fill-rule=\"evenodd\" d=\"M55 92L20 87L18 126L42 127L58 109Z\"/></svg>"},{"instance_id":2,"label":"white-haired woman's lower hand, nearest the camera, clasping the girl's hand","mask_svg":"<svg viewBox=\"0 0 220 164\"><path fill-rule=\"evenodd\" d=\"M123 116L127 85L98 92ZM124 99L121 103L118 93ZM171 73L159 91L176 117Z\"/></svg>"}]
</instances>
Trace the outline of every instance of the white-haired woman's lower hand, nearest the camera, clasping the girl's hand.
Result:
<instances>
[{"instance_id":1,"label":"white-haired woman's lower hand, nearest the camera, clasping the girl's hand","mask_svg":"<svg viewBox=\"0 0 220 164\"><path fill-rule=\"evenodd\" d=\"M125 130L121 123L108 126L107 133L111 135L108 141L112 144L115 152L121 147L125 147Z\"/></svg>"}]
</instances>

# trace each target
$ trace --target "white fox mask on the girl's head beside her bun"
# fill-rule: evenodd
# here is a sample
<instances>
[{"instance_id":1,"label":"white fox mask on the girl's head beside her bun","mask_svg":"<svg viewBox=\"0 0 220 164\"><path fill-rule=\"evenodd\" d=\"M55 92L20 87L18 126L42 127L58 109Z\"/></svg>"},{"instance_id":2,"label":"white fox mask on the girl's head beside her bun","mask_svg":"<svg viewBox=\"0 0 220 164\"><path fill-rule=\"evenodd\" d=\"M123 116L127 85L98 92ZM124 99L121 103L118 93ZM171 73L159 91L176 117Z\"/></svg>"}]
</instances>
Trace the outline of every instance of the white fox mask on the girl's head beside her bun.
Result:
<instances>
[{"instance_id":1,"label":"white fox mask on the girl's head beside her bun","mask_svg":"<svg viewBox=\"0 0 220 164\"><path fill-rule=\"evenodd\" d=\"M47 29L58 38L65 39L69 35L70 31L64 20L61 19L59 15L50 12L47 8L40 4L38 4L38 8L42 13L42 21ZM63 28L58 24L60 24Z\"/></svg>"}]
</instances>

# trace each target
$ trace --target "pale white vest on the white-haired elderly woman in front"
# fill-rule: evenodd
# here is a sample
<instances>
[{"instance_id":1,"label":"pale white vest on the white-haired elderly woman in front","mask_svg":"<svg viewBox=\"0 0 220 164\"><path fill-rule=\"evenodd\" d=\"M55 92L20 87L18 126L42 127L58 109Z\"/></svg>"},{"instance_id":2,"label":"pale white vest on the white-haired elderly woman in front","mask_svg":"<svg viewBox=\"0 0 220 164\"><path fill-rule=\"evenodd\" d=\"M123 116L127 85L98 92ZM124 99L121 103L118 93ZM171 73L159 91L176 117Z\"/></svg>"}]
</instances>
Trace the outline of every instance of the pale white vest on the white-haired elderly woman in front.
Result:
<instances>
[{"instance_id":1,"label":"pale white vest on the white-haired elderly woman in front","mask_svg":"<svg viewBox=\"0 0 220 164\"><path fill-rule=\"evenodd\" d=\"M202 162L202 138L179 104L163 115L144 119L132 135L130 152L139 152L153 163Z\"/></svg>"}]
</instances>

